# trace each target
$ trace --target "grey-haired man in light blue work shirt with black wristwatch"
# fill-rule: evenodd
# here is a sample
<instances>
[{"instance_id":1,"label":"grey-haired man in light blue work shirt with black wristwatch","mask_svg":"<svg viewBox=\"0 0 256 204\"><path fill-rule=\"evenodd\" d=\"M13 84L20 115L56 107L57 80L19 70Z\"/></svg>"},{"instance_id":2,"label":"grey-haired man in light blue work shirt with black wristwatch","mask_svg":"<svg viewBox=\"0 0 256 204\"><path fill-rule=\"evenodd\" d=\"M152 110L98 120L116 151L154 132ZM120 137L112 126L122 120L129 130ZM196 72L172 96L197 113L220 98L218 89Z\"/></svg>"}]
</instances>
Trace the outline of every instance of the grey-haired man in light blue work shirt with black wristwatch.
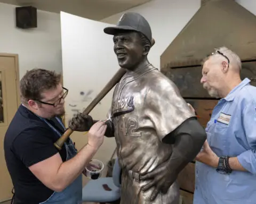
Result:
<instances>
[{"instance_id":1,"label":"grey-haired man in light blue work shirt with black wristwatch","mask_svg":"<svg viewBox=\"0 0 256 204\"><path fill-rule=\"evenodd\" d=\"M256 203L256 87L240 71L241 60L226 47L204 62L201 83L221 99L196 157L194 204Z\"/></svg>"}]
</instances>

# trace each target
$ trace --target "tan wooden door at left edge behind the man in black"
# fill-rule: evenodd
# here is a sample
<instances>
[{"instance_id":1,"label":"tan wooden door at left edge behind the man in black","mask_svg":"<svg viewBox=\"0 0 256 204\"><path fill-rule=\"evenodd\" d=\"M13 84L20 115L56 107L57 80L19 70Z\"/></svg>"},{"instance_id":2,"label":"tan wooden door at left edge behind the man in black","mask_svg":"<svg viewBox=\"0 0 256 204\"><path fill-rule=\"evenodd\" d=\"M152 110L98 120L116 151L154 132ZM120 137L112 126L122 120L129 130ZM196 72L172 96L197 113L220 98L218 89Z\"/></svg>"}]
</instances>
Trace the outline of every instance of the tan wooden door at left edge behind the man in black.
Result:
<instances>
[{"instance_id":1,"label":"tan wooden door at left edge behind the man in black","mask_svg":"<svg viewBox=\"0 0 256 204\"><path fill-rule=\"evenodd\" d=\"M0 53L0 202L12 197L12 181L4 158L4 135L20 104L18 55Z\"/></svg>"}]
</instances>

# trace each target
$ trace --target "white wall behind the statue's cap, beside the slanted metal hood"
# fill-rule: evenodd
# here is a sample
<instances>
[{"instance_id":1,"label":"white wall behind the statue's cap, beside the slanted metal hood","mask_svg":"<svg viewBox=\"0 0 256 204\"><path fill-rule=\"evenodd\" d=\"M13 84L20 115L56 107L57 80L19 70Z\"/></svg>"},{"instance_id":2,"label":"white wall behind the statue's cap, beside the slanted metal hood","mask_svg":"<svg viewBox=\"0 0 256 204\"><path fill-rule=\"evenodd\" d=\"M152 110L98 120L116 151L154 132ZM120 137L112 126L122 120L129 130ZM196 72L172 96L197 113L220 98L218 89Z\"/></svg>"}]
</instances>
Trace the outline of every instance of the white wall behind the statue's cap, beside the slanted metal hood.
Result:
<instances>
[{"instance_id":1,"label":"white wall behind the statue's cap, beside the slanted metal hood","mask_svg":"<svg viewBox=\"0 0 256 204\"><path fill-rule=\"evenodd\" d=\"M256 14L255 0L237 0L236 2ZM156 41L154 47L150 50L148 58L158 69L160 68L161 54L182 28L185 27L200 6L201 0L153 0L127 10L138 12L148 20L152 36ZM124 12L102 19L101 22L116 24Z\"/></svg>"}]
</instances>

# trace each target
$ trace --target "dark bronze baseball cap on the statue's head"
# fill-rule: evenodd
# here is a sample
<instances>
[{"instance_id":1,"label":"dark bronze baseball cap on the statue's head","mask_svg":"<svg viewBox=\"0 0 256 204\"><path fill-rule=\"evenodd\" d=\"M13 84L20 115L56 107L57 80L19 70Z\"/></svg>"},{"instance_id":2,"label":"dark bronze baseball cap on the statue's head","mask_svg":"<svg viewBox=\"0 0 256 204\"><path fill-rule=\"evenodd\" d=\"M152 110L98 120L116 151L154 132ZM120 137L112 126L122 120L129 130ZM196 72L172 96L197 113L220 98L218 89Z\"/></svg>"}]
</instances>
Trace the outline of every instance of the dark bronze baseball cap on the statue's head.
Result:
<instances>
[{"instance_id":1,"label":"dark bronze baseball cap on the statue's head","mask_svg":"<svg viewBox=\"0 0 256 204\"><path fill-rule=\"evenodd\" d=\"M122 30L141 32L151 43L152 33L148 21L139 13L127 12L119 19L115 27L107 27L103 31L109 35L115 35Z\"/></svg>"}]
</instances>

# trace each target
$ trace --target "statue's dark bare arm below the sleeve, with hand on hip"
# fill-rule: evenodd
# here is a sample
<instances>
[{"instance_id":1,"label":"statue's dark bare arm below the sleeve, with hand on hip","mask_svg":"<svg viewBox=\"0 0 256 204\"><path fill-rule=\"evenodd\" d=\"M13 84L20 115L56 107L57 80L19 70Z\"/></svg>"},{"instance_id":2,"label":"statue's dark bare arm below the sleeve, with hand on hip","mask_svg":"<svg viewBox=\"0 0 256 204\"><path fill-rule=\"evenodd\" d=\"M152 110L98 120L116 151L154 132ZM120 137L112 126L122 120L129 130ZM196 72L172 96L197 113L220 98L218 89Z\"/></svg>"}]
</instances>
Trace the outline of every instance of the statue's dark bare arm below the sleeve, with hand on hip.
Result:
<instances>
[{"instance_id":1,"label":"statue's dark bare arm below the sleeve, with hand on hip","mask_svg":"<svg viewBox=\"0 0 256 204\"><path fill-rule=\"evenodd\" d=\"M143 186L143 191L155 186L151 201L157 197L159 191L167 193L182 169L196 157L205 140L206 133L196 117L188 118L169 134L165 134L162 142L172 144L171 157L152 172L140 177L141 180L150 181Z\"/></svg>"}]
</instances>

